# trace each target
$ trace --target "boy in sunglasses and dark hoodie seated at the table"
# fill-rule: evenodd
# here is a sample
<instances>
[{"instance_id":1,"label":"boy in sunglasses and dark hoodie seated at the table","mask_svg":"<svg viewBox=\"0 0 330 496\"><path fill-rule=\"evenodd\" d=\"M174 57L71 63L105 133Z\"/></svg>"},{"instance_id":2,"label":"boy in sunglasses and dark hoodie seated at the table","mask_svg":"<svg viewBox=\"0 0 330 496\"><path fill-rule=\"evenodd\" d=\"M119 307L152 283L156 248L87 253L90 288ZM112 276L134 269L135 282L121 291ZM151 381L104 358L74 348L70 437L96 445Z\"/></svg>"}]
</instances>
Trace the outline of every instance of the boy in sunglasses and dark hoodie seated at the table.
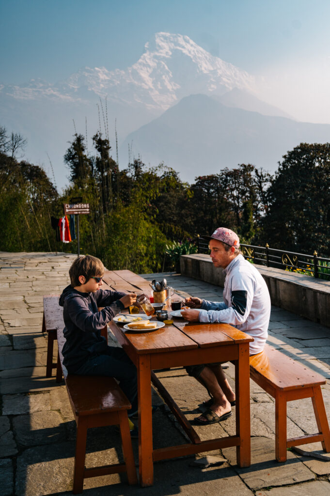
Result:
<instances>
[{"instance_id":1,"label":"boy in sunglasses and dark hoodie seated at the table","mask_svg":"<svg viewBox=\"0 0 330 496\"><path fill-rule=\"evenodd\" d=\"M76 258L69 269L71 284L60 297L66 325L63 363L68 373L115 377L132 404L132 416L137 412L136 368L122 348L107 345L101 330L136 301L136 294L102 291L103 274L103 263L91 255Z\"/></svg>"}]
</instances>

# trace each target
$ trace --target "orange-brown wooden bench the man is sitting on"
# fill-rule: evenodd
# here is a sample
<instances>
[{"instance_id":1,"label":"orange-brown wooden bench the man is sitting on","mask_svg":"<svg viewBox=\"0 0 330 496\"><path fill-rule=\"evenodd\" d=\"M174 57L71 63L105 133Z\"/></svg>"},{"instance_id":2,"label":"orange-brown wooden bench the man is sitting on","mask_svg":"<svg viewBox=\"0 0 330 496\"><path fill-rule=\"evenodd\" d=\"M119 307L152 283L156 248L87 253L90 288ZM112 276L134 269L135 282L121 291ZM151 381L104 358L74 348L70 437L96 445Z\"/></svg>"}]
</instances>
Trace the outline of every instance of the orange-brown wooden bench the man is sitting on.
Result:
<instances>
[{"instance_id":1,"label":"orange-brown wooden bench the man is sitting on","mask_svg":"<svg viewBox=\"0 0 330 496\"><path fill-rule=\"evenodd\" d=\"M326 380L299 362L266 345L264 351L250 357L250 376L268 394L275 398L275 457L286 461L286 450L292 446L322 442L324 451L330 451L330 432L323 402L321 384ZM317 434L287 439L286 403L312 398Z\"/></svg>"}]
</instances>

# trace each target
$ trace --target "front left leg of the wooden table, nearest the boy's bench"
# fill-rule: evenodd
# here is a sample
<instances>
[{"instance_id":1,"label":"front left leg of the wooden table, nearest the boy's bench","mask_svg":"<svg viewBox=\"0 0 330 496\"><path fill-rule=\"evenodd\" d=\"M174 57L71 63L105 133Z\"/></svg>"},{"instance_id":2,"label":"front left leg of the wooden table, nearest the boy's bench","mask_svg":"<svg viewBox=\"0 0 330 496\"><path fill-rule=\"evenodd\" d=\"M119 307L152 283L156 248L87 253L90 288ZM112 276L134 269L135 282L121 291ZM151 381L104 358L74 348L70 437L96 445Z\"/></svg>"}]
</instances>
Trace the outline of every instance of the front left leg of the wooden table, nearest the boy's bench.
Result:
<instances>
[{"instance_id":1,"label":"front left leg of the wooden table, nearest the boy's bench","mask_svg":"<svg viewBox=\"0 0 330 496\"><path fill-rule=\"evenodd\" d=\"M152 411L151 411L151 368L150 356L138 357L138 456L141 486L153 484L152 460Z\"/></svg>"}]
</instances>

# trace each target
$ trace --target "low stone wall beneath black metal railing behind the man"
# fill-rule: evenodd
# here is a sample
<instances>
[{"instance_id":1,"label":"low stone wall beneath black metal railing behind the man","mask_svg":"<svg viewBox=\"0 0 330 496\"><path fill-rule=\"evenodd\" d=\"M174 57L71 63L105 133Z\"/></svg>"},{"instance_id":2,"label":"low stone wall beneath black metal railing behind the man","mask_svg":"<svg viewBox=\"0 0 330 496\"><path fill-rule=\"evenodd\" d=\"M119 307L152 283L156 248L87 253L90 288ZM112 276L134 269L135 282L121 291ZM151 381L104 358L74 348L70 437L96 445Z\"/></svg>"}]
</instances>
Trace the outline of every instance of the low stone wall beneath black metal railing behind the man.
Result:
<instances>
[{"instance_id":1,"label":"low stone wall beneath black metal railing behind the man","mask_svg":"<svg viewBox=\"0 0 330 496\"><path fill-rule=\"evenodd\" d=\"M330 327L330 281L303 274L257 265L264 277L272 305ZM201 281L223 286L224 273L213 267L209 255L182 255L181 273Z\"/></svg>"}]
</instances>

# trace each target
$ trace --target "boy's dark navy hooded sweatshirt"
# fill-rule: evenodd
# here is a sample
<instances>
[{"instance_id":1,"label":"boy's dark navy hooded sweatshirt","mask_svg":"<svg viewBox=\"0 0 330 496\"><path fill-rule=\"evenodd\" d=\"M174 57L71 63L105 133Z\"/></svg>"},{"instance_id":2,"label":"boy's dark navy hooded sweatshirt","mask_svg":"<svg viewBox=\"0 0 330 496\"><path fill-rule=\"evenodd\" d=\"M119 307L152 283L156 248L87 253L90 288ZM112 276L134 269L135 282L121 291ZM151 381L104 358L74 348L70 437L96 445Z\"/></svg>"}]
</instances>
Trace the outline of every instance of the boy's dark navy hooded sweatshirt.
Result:
<instances>
[{"instance_id":1,"label":"boy's dark navy hooded sweatshirt","mask_svg":"<svg viewBox=\"0 0 330 496\"><path fill-rule=\"evenodd\" d=\"M62 353L67 372L78 371L88 357L106 350L107 342L101 336L101 330L124 309L119 299L125 294L101 289L95 293L80 293L70 285L63 290L59 303L66 325ZM98 307L105 308L98 311Z\"/></svg>"}]
</instances>

